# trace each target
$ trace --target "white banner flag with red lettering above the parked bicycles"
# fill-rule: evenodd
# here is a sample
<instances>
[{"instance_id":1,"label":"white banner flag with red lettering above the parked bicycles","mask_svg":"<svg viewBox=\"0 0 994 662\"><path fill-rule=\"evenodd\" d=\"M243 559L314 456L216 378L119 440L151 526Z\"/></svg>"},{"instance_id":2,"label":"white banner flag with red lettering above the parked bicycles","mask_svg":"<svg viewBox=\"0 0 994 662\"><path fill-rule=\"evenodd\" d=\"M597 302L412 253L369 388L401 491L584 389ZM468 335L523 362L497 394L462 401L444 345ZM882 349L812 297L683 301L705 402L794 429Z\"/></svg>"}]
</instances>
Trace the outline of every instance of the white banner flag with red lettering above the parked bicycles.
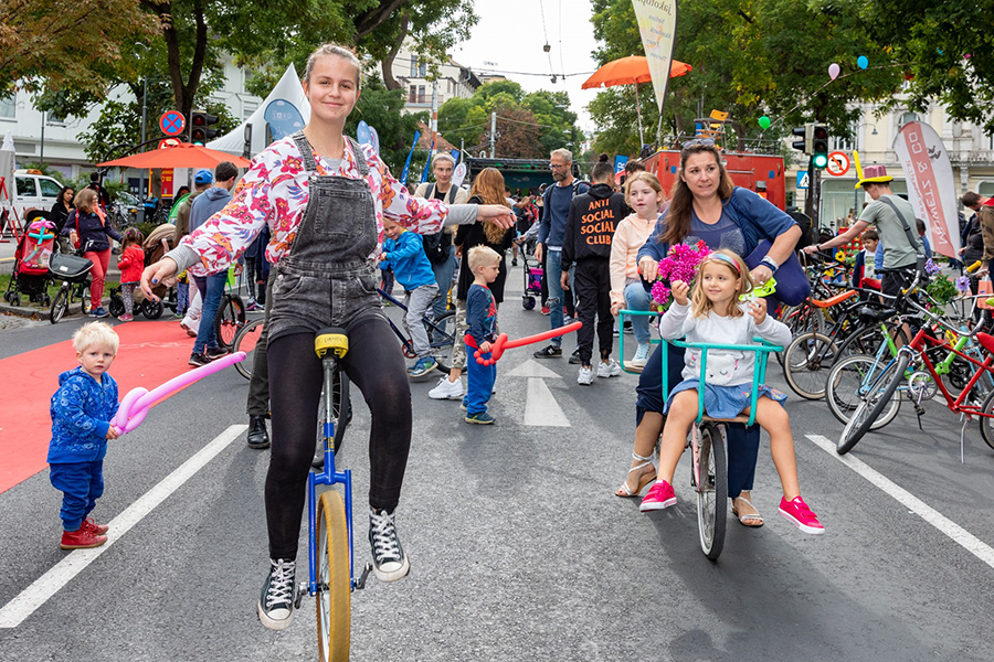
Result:
<instances>
[{"instance_id":1,"label":"white banner flag with red lettering above the parked bicycles","mask_svg":"<svg viewBox=\"0 0 994 662\"><path fill-rule=\"evenodd\" d=\"M914 215L926 223L932 252L959 257L960 220L952 166L942 139L931 126L909 121L893 141Z\"/></svg>"}]
</instances>

